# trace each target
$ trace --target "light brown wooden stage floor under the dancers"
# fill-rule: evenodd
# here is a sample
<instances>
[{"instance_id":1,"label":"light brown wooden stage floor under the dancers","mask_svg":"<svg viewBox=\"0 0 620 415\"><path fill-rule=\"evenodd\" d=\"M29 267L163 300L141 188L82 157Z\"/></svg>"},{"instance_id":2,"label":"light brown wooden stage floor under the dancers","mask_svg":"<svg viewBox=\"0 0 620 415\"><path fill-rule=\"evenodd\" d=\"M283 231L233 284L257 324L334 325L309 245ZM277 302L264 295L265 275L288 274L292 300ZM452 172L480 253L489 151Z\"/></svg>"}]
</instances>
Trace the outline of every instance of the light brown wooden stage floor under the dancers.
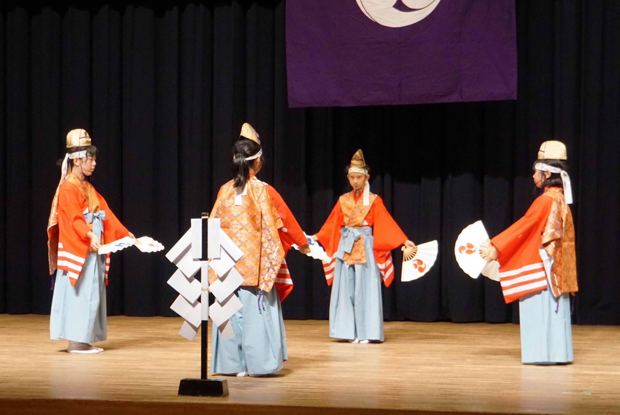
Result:
<instances>
[{"instance_id":1,"label":"light brown wooden stage floor under the dancers","mask_svg":"<svg viewBox=\"0 0 620 415\"><path fill-rule=\"evenodd\" d=\"M230 396L177 396L200 377L180 318L108 318L95 355L50 341L49 317L0 315L0 414L618 414L620 326L573 326L575 363L520 362L519 326L388 322L386 343L286 321L285 369L227 377Z\"/></svg>"}]
</instances>

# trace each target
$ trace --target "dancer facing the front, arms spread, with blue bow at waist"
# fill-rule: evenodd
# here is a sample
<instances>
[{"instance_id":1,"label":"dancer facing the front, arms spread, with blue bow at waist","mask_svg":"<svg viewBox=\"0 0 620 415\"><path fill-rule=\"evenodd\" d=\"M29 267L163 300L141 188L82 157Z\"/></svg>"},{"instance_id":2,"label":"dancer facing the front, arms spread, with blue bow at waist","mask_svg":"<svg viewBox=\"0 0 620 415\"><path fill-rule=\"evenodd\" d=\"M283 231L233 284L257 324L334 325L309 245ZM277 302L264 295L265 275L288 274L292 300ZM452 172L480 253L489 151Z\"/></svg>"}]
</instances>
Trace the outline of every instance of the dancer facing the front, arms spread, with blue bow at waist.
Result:
<instances>
[{"instance_id":1,"label":"dancer facing the front, arms spread, with blue bow at waist","mask_svg":"<svg viewBox=\"0 0 620 415\"><path fill-rule=\"evenodd\" d=\"M392 249L415 247L381 198L370 193L369 171L360 149L347 166L352 191L340 196L321 230L310 237L332 256L325 269L334 266L333 273L326 271L332 286L329 336L351 343L384 341L381 276L389 286L394 278Z\"/></svg>"}]
</instances>

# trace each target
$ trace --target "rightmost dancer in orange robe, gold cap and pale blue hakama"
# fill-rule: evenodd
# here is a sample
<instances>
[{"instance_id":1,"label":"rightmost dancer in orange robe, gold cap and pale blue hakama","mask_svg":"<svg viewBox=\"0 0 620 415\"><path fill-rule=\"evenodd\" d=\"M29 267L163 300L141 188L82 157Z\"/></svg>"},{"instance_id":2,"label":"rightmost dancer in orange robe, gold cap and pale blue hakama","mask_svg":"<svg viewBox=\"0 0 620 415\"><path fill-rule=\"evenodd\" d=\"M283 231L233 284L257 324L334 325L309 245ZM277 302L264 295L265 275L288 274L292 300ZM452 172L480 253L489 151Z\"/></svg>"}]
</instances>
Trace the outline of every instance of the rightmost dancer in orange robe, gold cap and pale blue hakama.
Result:
<instances>
[{"instance_id":1,"label":"rightmost dancer in orange robe, gold cap and pale blue hakama","mask_svg":"<svg viewBox=\"0 0 620 415\"><path fill-rule=\"evenodd\" d=\"M519 300L521 362L552 365L573 361L569 293L577 291L575 230L569 204L566 146L545 141L534 162L541 195L525 216L492 238L482 251L498 260L507 303Z\"/></svg>"}]
</instances>

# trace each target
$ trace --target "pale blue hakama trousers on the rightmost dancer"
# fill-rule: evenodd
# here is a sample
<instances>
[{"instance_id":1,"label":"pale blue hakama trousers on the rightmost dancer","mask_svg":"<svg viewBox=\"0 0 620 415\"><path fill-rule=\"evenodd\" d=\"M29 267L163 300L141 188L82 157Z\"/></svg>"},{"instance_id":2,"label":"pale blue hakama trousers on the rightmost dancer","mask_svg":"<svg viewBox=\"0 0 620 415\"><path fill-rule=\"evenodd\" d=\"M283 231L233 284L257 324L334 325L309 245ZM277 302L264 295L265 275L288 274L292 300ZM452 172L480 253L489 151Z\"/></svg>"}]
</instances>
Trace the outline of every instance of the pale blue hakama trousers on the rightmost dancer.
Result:
<instances>
[{"instance_id":1,"label":"pale blue hakama trousers on the rightmost dancer","mask_svg":"<svg viewBox=\"0 0 620 415\"><path fill-rule=\"evenodd\" d=\"M573 361L569 295L556 299L547 287L519 299L521 362L545 365Z\"/></svg>"}]
</instances>

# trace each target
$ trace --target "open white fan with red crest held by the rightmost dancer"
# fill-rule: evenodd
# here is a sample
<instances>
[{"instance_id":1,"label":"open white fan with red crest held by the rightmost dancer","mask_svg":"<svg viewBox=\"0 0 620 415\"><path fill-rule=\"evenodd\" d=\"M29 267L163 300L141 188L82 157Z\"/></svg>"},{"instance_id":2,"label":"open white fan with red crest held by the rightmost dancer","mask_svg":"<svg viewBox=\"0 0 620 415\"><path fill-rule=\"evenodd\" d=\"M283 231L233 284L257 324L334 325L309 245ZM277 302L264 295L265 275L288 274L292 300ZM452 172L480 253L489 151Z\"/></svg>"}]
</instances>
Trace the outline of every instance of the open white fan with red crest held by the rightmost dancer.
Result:
<instances>
[{"instance_id":1,"label":"open white fan with red crest held by the rightmost dancer","mask_svg":"<svg viewBox=\"0 0 620 415\"><path fill-rule=\"evenodd\" d=\"M499 263L497 261L487 263L480 253L480 251L486 252L489 247L489 234L482 221L474 222L463 229L463 232L456 238L454 244L456 262L464 273L472 278L477 278L482 273L490 279L499 281Z\"/></svg>"}]
</instances>

